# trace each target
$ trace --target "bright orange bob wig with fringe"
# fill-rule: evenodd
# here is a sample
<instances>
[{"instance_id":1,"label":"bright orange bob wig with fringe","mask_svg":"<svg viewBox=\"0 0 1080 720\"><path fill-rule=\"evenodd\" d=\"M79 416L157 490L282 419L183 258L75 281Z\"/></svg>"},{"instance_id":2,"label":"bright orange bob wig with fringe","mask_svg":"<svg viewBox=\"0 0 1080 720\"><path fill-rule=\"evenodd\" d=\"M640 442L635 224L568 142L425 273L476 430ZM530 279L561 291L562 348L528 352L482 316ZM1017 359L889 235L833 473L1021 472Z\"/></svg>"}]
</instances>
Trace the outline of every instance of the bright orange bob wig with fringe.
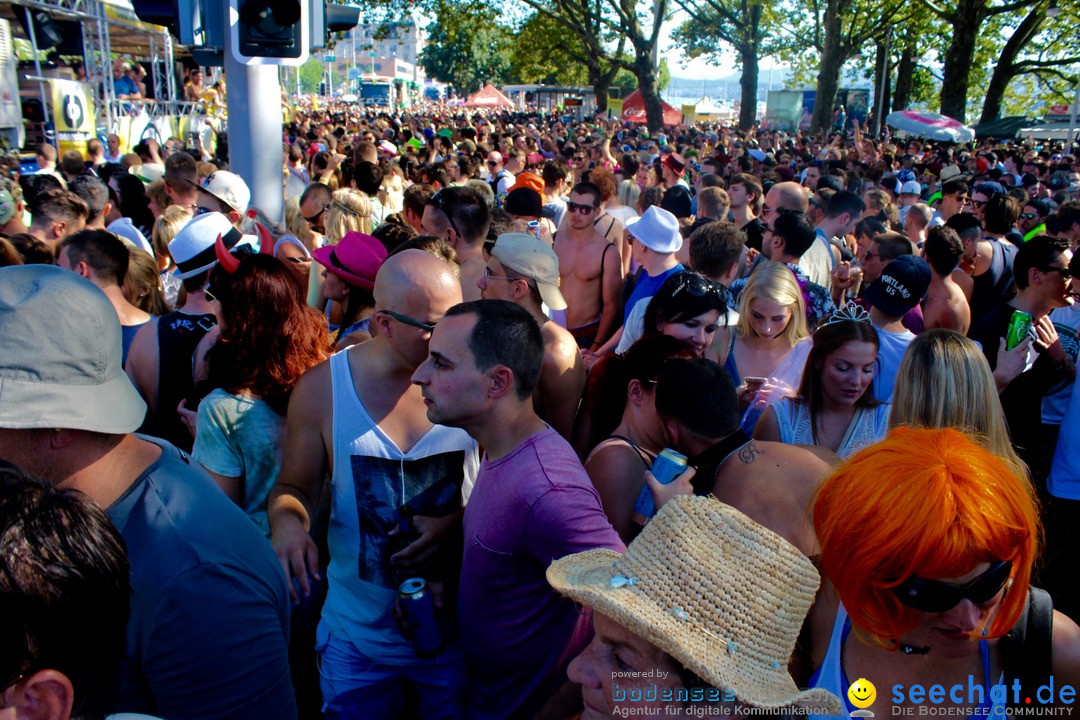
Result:
<instances>
[{"instance_id":1,"label":"bright orange bob wig with fringe","mask_svg":"<svg viewBox=\"0 0 1080 720\"><path fill-rule=\"evenodd\" d=\"M821 569L852 625L882 648L921 613L891 588L913 575L956 578L1012 561L988 637L1013 626L1026 601L1040 526L1031 485L957 430L901 427L840 465L813 505Z\"/></svg>"}]
</instances>

